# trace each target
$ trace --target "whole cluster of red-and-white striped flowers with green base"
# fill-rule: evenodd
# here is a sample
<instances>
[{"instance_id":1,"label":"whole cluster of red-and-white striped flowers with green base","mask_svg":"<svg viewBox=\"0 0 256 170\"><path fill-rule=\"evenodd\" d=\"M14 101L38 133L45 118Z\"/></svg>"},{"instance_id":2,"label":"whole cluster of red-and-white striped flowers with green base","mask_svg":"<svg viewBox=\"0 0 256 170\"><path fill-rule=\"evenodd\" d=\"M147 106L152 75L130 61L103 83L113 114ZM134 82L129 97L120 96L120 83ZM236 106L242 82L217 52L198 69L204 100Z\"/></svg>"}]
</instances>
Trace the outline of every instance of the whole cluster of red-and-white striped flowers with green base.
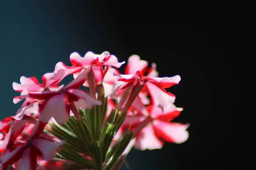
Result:
<instances>
[{"instance_id":1,"label":"whole cluster of red-and-white striped flowers with green base","mask_svg":"<svg viewBox=\"0 0 256 170\"><path fill-rule=\"evenodd\" d=\"M84 57L74 52L70 62L58 62L42 84L35 77L13 83L20 93L13 102L23 103L0 122L0 169L108 170L119 167L131 147L160 149L188 139L189 125L171 122L183 108L166 91L180 76L160 78L156 64L148 68L137 55L120 74L116 68L125 62L108 51ZM60 85L68 75L74 80Z\"/></svg>"}]
</instances>

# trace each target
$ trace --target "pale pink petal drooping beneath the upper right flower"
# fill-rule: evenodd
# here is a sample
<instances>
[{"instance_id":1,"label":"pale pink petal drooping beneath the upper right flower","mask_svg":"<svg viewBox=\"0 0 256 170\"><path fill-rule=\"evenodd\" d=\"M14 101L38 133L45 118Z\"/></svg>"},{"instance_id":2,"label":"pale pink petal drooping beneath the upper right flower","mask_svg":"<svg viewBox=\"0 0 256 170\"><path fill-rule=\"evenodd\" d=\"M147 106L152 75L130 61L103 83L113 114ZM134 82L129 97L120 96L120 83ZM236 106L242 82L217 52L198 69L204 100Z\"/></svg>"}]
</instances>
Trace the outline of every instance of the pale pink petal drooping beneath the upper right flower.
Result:
<instances>
[{"instance_id":1,"label":"pale pink petal drooping beneath the upper right flower","mask_svg":"<svg viewBox=\"0 0 256 170\"><path fill-rule=\"evenodd\" d=\"M156 107L159 107L162 112L166 112L166 109L172 107L172 104L175 102L175 96L173 94L166 93L156 85L149 82L145 85L148 88L151 101L156 105Z\"/></svg>"}]
</instances>

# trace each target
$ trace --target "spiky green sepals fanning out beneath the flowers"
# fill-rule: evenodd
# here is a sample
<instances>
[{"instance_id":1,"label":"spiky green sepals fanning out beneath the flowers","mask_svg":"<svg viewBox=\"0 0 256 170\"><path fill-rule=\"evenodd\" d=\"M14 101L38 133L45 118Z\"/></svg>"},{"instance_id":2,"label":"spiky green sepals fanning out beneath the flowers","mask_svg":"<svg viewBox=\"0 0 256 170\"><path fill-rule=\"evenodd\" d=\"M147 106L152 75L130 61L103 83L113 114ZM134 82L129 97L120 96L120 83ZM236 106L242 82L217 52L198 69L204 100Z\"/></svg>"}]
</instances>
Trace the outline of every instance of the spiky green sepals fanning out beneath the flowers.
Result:
<instances>
[{"instance_id":1,"label":"spiky green sepals fanning out beneath the flowers","mask_svg":"<svg viewBox=\"0 0 256 170\"><path fill-rule=\"evenodd\" d=\"M51 130L47 132L64 140L56 158L63 161L64 169L118 170L122 165L125 160L122 153L131 141L133 133L125 132L111 146L126 114L113 110L105 120L107 101L107 98L102 98L102 105L80 110L81 121L70 116L64 125L50 125Z\"/></svg>"}]
</instances>

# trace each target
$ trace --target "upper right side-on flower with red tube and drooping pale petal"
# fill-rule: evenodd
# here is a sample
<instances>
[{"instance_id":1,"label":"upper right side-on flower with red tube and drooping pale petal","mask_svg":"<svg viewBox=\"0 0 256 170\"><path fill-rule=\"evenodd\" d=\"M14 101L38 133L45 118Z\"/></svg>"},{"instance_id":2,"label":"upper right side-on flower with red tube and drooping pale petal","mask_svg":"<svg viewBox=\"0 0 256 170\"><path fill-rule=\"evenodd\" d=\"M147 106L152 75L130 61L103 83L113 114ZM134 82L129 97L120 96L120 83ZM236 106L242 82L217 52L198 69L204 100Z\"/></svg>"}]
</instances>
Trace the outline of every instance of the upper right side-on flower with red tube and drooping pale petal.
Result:
<instances>
[{"instance_id":1,"label":"upper right side-on flower with red tube and drooping pale petal","mask_svg":"<svg viewBox=\"0 0 256 170\"><path fill-rule=\"evenodd\" d=\"M125 83L120 83L117 87L114 87L116 91L113 91L111 94L112 98L116 98L118 96L118 91L124 90L124 93L130 94L126 105L131 106L134 99L143 90L144 85L146 84L146 88L151 96L151 99L154 98L154 101L157 103L157 106L162 108L171 107L171 105L175 102L175 96L171 93L166 93L164 88L169 88L172 85L177 85L180 82L180 76L175 77L145 77L142 75L141 71L137 71L134 75L119 75L115 74L118 81L122 81ZM138 88L139 87L139 88ZM134 93L131 90L138 88L139 90ZM131 97L133 95L133 97ZM127 98L127 96L125 96ZM130 101L130 102L129 102ZM123 105L123 103L121 103ZM127 111L128 107L123 108L123 110Z\"/></svg>"}]
</instances>

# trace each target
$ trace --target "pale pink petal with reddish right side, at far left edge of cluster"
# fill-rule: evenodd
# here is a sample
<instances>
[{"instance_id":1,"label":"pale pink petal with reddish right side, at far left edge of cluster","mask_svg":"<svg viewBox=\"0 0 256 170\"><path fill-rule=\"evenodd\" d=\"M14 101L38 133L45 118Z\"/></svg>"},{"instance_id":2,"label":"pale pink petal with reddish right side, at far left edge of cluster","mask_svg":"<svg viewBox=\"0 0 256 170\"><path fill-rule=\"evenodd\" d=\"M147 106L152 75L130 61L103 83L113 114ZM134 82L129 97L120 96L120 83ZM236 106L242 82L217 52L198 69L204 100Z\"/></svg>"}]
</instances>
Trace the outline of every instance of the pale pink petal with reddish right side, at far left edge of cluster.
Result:
<instances>
[{"instance_id":1,"label":"pale pink petal with reddish right side, at far left edge of cluster","mask_svg":"<svg viewBox=\"0 0 256 170\"><path fill-rule=\"evenodd\" d=\"M20 77L20 84L13 82L12 87L18 92L28 89L29 91L40 91L43 88L35 77L26 78L23 76Z\"/></svg>"}]
</instances>

